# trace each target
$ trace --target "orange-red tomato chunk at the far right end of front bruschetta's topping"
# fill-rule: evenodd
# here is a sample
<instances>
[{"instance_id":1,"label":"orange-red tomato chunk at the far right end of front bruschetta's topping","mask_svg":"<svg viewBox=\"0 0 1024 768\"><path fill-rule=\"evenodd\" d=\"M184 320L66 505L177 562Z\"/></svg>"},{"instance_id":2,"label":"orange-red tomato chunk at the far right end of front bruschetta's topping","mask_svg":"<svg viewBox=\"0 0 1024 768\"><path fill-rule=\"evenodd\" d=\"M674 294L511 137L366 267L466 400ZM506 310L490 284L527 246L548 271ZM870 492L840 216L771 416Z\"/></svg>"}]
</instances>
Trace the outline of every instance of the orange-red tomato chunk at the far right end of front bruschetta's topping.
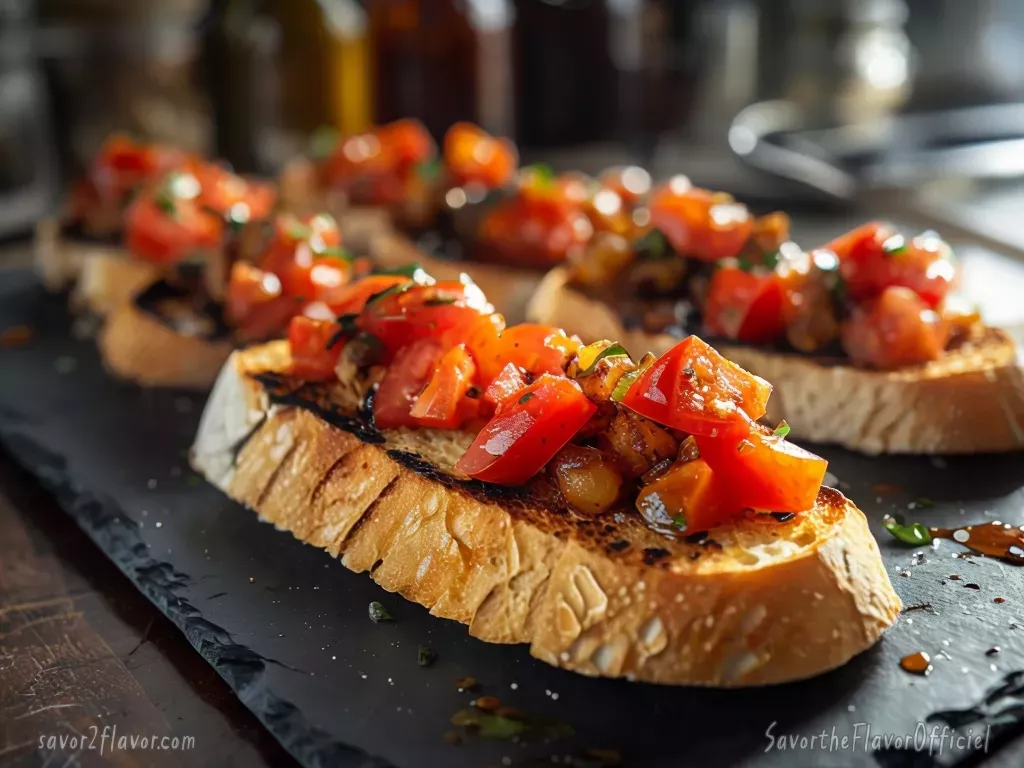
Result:
<instances>
[{"instance_id":1,"label":"orange-red tomato chunk at the far right end of front bruschetta's topping","mask_svg":"<svg viewBox=\"0 0 1024 768\"><path fill-rule=\"evenodd\" d=\"M751 422L745 435L696 436L700 458L728 480L740 507L803 512L814 507L828 462Z\"/></svg>"}]
</instances>

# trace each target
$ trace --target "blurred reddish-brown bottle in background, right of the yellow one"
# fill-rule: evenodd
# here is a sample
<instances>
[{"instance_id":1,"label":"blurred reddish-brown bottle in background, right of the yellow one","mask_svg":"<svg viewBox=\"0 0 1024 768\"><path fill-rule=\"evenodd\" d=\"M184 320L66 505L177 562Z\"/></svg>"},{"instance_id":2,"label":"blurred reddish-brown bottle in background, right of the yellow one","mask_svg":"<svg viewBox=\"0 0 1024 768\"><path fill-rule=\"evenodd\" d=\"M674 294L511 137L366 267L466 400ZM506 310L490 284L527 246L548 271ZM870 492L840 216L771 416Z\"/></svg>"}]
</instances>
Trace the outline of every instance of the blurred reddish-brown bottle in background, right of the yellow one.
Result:
<instances>
[{"instance_id":1,"label":"blurred reddish-brown bottle in background, right of the yellow one","mask_svg":"<svg viewBox=\"0 0 1024 768\"><path fill-rule=\"evenodd\" d=\"M371 0L374 119L512 129L508 0Z\"/></svg>"}]
</instances>

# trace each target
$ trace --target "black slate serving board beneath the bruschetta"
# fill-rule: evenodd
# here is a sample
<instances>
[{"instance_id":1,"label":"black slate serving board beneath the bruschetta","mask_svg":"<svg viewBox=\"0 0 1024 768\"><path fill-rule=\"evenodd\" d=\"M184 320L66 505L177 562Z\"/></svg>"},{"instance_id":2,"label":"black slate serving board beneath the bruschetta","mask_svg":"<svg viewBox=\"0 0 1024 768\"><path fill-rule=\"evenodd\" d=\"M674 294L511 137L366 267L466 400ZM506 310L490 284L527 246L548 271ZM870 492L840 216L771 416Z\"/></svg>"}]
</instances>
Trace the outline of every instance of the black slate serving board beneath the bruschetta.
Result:
<instances>
[{"instance_id":1,"label":"black slate serving board beneath the bruschetta","mask_svg":"<svg viewBox=\"0 0 1024 768\"><path fill-rule=\"evenodd\" d=\"M599 765L588 749L616 750L629 766L1024 762L1017 738L1024 734L1024 682L1012 674L1024 668L1024 570L953 558L962 550L950 542L914 558L881 527L882 515L893 511L933 524L1024 523L1024 456L866 459L821 449L871 519L897 592L915 606L844 669L736 691L592 680L534 660L524 647L473 640L461 625L429 616L260 523L187 467L202 396L112 381L92 342L73 337L59 298L45 296L26 272L0 271L0 332L18 325L31 326L36 338L0 349L6 450L306 765ZM879 483L900 488L880 495ZM907 510L923 497L934 506ZM371 622L373 600L396 621ZM417 664L420 645L436 651L434 666ZM986 655L993 646L999 652ZM918 650L933 656L928 678L898 667ZM457 689L464 675L479 680L480 694L558 718L575 735L446 743L449 719L474 697ZM948 741L941 755L929 755L927 744L924 753L872 752L869 741L865 749L867 725L871 736L913 734L942 711L952 711L942 717L965 733L999 723L988 754L950 752ZM784 742L797 749L780 751L766 736L769 727L776 738L797 736ZM829 741L834 727L839 738L860 734L856 750L800 749L800 737L809 741L822 730Z\"/></svg>"}]
</instances>

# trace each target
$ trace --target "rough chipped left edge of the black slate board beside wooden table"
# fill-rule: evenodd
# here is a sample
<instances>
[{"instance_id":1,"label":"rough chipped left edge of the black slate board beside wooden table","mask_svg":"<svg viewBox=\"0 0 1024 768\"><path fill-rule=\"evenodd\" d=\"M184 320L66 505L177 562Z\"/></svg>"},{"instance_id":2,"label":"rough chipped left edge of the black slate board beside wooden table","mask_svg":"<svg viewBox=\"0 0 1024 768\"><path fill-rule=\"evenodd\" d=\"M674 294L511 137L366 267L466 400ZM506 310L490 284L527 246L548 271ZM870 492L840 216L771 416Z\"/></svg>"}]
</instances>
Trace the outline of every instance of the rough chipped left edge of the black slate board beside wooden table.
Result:
<instances>
[{"instance_id":1,"label":"rough chipped left edge of the black slate board beside wooden table","mask_svg":"<svg viewBox=\"0 0 1024 768\"><path fill-rule=\"evenodd\" d=\"M0 414L0 417L6 416ZM183 584L174 567L150 554L133 520L120 505L76 483L58 455L0 418L0 443L34 475L138 590L187 638L281 744L307 768L396 768L384 758L344 743L309 723L291 701L266 687L264 672L272 658L231 640L230 634L207 621L176 594Z\"/></svg>"}]
</instances>

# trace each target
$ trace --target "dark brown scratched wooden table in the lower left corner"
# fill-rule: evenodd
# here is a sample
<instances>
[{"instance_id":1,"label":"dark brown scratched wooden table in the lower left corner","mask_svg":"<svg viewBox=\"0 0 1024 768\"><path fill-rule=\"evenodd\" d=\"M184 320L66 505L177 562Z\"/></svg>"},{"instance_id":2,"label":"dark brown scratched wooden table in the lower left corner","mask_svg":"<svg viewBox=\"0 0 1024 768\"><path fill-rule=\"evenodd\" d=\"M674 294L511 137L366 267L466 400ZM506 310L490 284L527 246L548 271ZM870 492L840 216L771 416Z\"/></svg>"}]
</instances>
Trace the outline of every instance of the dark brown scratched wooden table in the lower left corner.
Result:
<instances>
[{"instance_id":1,"label":"dark brown scratched wooden table in the lower left corner","mask_svg":"<svg viewBox=\"0 0 1024 768\"><path fill-rule=\"evenodd\" d=\"M86 745L72 746L82 736ZM112 742L131 736L136 745L142 736L167 737L166 746L177 738L179 751L111 752ZM193 745L182 751L186 738ZM43 765L294 761L178 630L0 454L0 766Z\"/></svg>"}]
</instances>

